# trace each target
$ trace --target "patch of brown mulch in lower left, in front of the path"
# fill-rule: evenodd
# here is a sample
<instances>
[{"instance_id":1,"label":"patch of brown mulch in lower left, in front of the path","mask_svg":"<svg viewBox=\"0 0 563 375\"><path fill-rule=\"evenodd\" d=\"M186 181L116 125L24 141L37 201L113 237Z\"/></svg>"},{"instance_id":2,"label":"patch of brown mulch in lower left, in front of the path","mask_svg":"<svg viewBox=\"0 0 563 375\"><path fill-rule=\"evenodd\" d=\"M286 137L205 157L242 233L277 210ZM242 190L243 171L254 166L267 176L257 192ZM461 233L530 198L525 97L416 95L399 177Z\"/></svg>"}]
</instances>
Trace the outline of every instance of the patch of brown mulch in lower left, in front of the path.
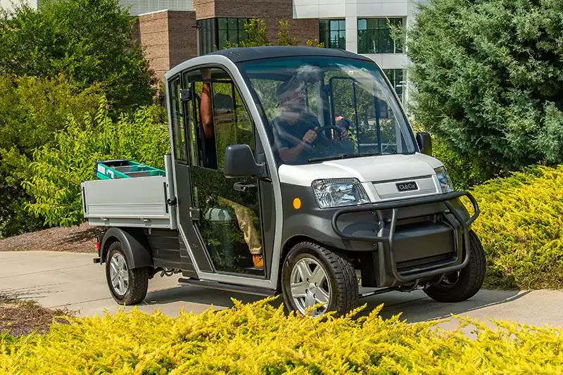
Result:
<instances>
[{"instance_id":1,"label":"patch of brown mulch in lower left, in front of the path","mask_svg":"<svg viewBox=\"0 0 563 375\"><path fill-rule=\"evenodd\" d=\"M72 314L70 310L49 310L34 301L0 294L0 337L6 332L11 336L46 333L53 322L68 323L62 316Z\"/></svg>"}]
</instances>

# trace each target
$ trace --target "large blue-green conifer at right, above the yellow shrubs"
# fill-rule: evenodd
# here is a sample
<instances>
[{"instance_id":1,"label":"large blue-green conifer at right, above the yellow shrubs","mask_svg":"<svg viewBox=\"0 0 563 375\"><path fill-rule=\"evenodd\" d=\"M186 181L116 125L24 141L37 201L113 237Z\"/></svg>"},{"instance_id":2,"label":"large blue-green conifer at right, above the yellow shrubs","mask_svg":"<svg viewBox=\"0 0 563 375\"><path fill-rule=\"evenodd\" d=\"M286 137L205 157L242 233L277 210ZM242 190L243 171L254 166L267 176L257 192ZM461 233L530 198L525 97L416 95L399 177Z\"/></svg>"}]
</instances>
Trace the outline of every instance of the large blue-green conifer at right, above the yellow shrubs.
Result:
<instances>
[{"instance_id":1,"label":"large blue-green conifer at right, above the yellow shrubs","mask_svg":"<svg viewBox=\"0 0 563 375\"><path fill-rule=\"evenodd\" d=\"M412 115L483 165L563 163L563 1L431 0L408 30Z\"/></svg>"}]
</instances>

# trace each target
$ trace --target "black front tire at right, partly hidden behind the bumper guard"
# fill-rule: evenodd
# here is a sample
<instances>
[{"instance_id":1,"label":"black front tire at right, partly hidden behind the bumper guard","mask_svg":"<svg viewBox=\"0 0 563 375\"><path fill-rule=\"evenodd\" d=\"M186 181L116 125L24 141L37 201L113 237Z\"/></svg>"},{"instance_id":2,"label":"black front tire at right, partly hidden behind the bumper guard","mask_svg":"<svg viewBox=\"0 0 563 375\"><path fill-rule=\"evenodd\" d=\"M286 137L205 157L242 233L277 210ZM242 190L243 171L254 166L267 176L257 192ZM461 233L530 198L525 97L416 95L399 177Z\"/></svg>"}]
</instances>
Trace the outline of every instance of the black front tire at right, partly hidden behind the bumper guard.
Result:
<instances>
[{"instance_id":1,"label":"black front tire at right, partly hidden behind the bumper guard","mask_svg":"<svg viewBox=\"0 0 563 375\"><path fill-rule=\"evenodd\" d=\"M486 273L485 251L474 231L469 231L469 251L471 258L467 267L424 289L424 293L438 302L461 302L472 298L483 286Z\"/></svg>"}]
</instances>

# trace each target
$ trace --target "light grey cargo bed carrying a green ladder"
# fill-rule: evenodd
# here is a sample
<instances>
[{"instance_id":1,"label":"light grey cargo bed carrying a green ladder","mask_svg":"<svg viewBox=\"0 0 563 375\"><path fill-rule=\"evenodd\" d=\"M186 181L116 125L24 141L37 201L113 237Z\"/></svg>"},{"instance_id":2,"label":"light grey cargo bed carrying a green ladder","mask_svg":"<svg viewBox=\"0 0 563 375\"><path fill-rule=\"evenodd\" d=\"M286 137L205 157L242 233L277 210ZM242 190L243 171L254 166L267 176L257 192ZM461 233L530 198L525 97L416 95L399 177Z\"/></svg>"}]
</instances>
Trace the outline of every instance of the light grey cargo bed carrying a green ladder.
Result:
<instances>
[{"instance_id":1,"label":"light grey cargo bed carrying a green ladder","mask_svg":"<svg viewBox=\"0 0 563 375\"><path fill-rule=\"evenodd\" d=\"M170 155L166 170L131 160L96 163L97 180L82 182L82 210L91 225L176 229Z\"/></svg>"}]
</instances>

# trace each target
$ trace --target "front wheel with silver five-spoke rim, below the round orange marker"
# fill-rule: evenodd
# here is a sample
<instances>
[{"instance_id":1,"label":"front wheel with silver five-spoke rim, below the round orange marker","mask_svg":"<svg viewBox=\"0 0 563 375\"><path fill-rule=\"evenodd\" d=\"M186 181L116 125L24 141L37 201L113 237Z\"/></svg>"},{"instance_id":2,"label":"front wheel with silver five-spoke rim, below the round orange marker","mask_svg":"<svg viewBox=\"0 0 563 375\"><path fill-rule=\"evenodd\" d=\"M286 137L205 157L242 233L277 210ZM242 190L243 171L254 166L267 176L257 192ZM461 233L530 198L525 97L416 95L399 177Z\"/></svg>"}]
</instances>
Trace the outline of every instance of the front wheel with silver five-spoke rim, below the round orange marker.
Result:
<instances>
[{"instance_id":1,"label":"front wheel with silver five-spoke rim, below the round orange marker","mask_svg":"<svg viewBox=\"0 0 563 375\"><path fill-rule=\"evenodd\" d=\"M358 279L348 258L312 242L298 243L289 251L281 269L281 291L286 309L301 314L327 301L310 313L335 311L341 316L358 305Z\"/></svg>"}]
</instances>

